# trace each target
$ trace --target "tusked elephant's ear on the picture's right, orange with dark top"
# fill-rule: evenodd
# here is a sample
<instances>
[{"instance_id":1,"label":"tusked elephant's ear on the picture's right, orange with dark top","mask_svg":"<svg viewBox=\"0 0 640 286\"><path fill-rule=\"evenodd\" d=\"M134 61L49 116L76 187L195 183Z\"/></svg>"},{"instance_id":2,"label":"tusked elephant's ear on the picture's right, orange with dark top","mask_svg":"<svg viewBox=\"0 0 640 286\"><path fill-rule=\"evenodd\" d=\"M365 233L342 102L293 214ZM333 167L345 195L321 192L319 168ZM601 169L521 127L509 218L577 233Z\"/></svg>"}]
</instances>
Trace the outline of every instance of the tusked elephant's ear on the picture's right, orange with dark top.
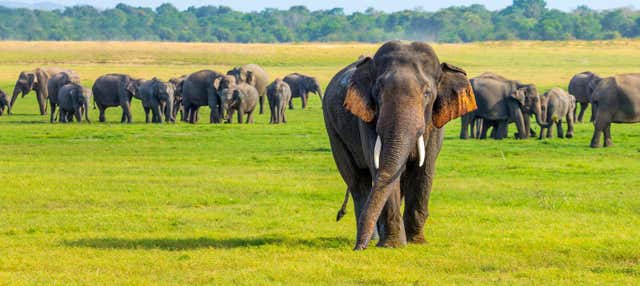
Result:
<instances>
[{"instance_id":1,"label":"tusked elephant's ear on the picture's right, orange with dark top","mask_svg":"<svg viewBox=\"0 0 640 286\"><path fill-rule=\"evenodd\" d=\"M442 76L438 81L438 97L433 103L432 121L442 128L449 121L478 108L467 73L456 66L442 63Z\"/></svg>"}]
</instances>

